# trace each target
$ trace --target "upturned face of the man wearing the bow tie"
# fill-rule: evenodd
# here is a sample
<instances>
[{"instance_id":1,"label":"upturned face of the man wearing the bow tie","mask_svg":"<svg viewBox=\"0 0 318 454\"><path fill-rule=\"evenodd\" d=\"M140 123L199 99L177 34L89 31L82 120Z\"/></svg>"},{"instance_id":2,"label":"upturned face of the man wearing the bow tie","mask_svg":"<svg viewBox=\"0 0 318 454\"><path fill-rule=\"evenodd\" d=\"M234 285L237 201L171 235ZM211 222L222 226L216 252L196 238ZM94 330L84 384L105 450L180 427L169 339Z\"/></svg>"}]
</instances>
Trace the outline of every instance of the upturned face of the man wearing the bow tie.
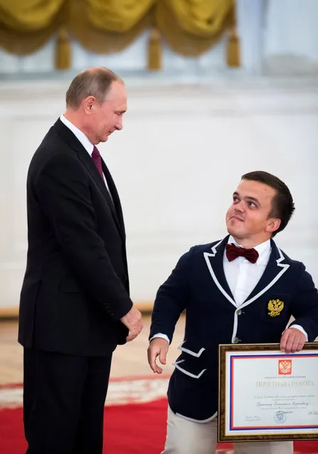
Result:
<instances>
[{"instance_id":1,"label":"upturned face of the man wearing the bow tie","mask_svg":"<svg viewBox=\"0 0 318 454\"><path fill-rule=\"evenodd\" d=\"M280 226L280 220L269 217L275 195L276 190L264 183L242 180L226 213L228 233L235 239L250 239L255 245L270 238Z\"/></svg>"}]
</instances>

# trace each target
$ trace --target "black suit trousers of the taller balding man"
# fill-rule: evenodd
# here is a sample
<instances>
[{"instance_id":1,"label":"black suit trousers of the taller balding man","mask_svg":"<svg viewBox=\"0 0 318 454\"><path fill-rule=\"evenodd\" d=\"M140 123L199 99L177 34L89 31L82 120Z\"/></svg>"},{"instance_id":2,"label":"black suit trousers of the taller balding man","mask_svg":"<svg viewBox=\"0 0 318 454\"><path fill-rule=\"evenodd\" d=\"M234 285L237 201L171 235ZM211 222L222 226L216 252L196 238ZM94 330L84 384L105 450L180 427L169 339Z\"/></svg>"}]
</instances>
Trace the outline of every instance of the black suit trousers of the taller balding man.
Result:
<instances>
[{"instance_id":1,"label":"black suit trousers of the taller balding man","mask_svg":"<svg viewBox=\"0 0 318 454\"><path fill-rule=\"evenodd\" d=\"M26 454L102 454L111 360L24 349Z\"/></svg>"}]
</instances>

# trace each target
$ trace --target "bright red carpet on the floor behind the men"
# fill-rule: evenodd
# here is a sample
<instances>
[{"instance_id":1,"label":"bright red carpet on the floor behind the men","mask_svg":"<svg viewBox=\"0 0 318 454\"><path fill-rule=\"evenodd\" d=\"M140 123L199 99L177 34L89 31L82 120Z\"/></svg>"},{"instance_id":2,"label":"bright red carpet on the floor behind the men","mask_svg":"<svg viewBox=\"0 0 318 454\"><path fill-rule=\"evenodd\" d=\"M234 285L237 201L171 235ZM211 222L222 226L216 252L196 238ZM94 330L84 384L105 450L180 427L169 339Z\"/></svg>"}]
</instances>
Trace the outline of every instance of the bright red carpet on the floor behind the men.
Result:
<instances>
[{"instance_id":1,"label":"bright red carpet on the floor behind the men","mask_svg":"<svg viewBox=\"0 0 318 454\"><path fill-rule=\"evenodd\" d=\"M105 454L159 454L166 431L166 399L105 409ZM229 444L221 443L219 453ZM0 410L0 453L23 454L22 409ZM295 453L318 453L318 441L296 441ZM195 453L194 453L195 454Z\"/></svg>"}]
</instances>

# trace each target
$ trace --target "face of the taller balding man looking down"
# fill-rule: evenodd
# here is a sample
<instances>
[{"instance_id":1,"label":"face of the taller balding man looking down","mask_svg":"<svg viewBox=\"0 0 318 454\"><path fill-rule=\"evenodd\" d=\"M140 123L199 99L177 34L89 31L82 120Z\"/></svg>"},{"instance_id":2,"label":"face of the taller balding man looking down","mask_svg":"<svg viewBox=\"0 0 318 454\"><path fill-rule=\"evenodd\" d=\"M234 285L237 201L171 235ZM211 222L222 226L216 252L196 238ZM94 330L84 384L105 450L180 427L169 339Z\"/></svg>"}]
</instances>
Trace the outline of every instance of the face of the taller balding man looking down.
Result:
<instances>
[{"instance_id":1,"label":"face of the taller balding man looking down","mask_svg":"<svg viewBox=\"0 0 318 454\"><path fill-rule=\"evenodd\" d=\"M90 137L93 144L107 141L114 131L122 129L122 117L127 110L127 94L122 82L112 82L102 104L96 101L90 109Z\"/></svg>"}]
</instances>

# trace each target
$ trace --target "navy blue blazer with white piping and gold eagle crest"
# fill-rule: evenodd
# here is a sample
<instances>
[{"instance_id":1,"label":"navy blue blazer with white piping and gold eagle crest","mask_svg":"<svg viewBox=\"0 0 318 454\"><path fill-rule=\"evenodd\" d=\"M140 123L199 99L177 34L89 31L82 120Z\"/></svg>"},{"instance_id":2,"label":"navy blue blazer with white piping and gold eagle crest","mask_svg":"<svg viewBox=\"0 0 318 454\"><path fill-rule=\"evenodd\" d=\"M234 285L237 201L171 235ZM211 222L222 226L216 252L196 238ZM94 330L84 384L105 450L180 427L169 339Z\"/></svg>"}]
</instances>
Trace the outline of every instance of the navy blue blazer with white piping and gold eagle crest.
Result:
<instances>
[{"instance_id":1,"label":"navy blue blazer with white piping and gold eagle crest","mask_svg":"<svg viewBox=\"0 0 318 454\"><path fill-rule=\"evenodd\" d=\"M174 362L168 389L176 414L210 421L218 410L218 345L280 342L290 320L306 330L309 342L318 335L318 293L304 264L290 259L271 240L272 251L263 276L239 307L223 271L228 237L191 247L157 292L151 338L166 334L170 341L180 314L186 310L181 355ZM275 303L277 310L273 310Z\"/></svg>"}]
</instances>

